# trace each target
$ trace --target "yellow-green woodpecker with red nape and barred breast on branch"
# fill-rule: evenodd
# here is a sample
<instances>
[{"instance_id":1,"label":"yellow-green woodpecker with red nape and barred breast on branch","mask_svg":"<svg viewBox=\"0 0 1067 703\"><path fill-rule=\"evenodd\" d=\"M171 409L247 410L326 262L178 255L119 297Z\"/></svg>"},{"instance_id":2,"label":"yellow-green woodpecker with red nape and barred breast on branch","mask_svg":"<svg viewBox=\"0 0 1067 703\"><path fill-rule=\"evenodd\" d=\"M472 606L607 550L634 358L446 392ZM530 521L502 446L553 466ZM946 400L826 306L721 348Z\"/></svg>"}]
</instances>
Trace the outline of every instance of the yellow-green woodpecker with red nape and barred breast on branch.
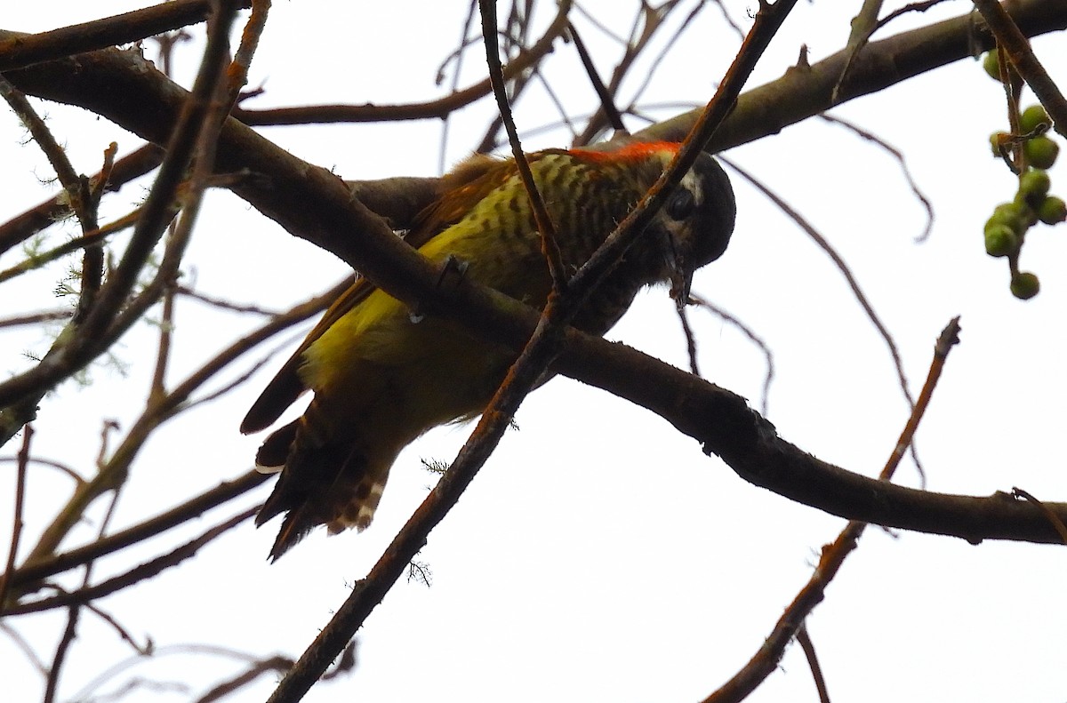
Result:
<instances>
[{"instance_id":1,"label":"yellow-green woodpecker with red nape and barred breast on branch","mask_svg":"<svg viewBox=\"0 0 1067 703\"><path fill-rule=\"evenodd\" d=\"M556 228L564 269L576 271L663 174L679 149L643 142L616 151L546 149L527 156ZM442 179L408 241L432 261L534 307L552 287L540 235L514 160L477 157ZM572 324L603 335L642 287L671 282L681 306L694 271L722 255L736 208L722 167L702 154L666 205ZM281 472L256 517L286 513L271 559L308 531L366 528L397 454L427 430L477 416L515 353L460 324L419 319L357 278L325 313L252 405L241 432L267 429L305 390L302 417L275 430L256 465Z\"/></svg>"}]
</instances>

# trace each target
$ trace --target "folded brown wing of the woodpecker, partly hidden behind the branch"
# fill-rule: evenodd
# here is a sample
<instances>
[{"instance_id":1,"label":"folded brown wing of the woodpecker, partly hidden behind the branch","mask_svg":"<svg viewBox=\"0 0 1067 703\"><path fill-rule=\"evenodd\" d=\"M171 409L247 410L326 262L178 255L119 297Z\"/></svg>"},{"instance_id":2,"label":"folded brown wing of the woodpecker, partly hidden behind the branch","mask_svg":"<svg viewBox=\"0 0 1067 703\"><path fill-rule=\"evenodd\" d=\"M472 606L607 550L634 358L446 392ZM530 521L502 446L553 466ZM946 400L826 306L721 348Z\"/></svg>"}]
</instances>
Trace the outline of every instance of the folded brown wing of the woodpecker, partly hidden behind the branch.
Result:
<instances>
[{"instance_id":1,"label":"folded brown wing of the woodpecker, partly hidden behind the branch","mask_svg":"<svg viewBox=\"0 0 1067 703\"><path fill-rule=\"evenodd\" d=\"M414 249L419 249L462 220L478 202L507 181L513 173L514 163L511 161L475 156L463 162L442 178L441 195L415 215L404 241ZM366 300L375 288L366 278L356 276L355 282L333 302L292 356L259 394L259 398L252 403L241 420L242 433L258 432L273 425L307 389L299 373L304 352L337 320Z\"/></svg>"}]
</instances>

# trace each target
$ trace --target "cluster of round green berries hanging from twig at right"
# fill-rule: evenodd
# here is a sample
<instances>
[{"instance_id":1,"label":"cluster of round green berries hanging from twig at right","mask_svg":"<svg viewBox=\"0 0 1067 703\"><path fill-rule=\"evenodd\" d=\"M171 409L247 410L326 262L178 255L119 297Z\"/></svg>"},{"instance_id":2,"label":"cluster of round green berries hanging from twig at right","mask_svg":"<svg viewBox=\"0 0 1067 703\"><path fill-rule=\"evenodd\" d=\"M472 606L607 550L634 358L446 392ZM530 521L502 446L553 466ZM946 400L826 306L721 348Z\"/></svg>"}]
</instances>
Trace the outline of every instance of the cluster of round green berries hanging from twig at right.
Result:
<instances>
[{"instance_id":1,"label":"cluster of round green berries hanging from twig at right","mask_svg":"<svg viewBox=\"0 0 1067 703\"><path fill-rule=\"evenodd\" d=\"M1010 63L1002 60L994 49L985 55L983 67L989 76L1006 85L1010 98L1009 122L1013 129L1010 132L993 132L989 143L993 155L1003 159L1019 176L1015 199L998 205L986 221L986 253L1007 257L1012 294L1026 300L1040 290L1036 275L1019 270L1019 253L1026 231L1038 222L1054 225L1067 220L1067 203L1049 194L1052 180L1048 169L1055 163L1060 145L1047 134L1052 121L1044 107L1032 105L1019 110L1022 80L1012 69ZM1002 76L1002 68L1007 69L1007 76Z\"/></svg>"}]
</instances>

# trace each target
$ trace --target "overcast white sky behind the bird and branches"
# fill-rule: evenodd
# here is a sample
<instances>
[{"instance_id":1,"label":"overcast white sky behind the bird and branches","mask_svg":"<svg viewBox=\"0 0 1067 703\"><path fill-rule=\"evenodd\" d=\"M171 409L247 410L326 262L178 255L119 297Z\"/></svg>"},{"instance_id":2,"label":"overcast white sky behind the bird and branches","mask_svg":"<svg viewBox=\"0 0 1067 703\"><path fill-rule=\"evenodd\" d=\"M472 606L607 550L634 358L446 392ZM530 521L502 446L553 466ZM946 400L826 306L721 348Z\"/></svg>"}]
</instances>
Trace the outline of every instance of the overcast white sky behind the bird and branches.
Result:
<instances>
[{"instance_id":1,"label":"overcast white sky behind the bird and branches","mask_svg":"<svg viewBox=\"0 0 1067 703\"><path fill-rule=\"evenodd\" d=\"M18 3L4 12L3 26L43 31L139 4ZM251 78L267 93L250 107L439 95L434 74L460 36L465 4L275 3ZM624 31L628 3L586 4L592 12L610 9L607 20ZM841 48L858 4L798 3L752 84L781 75L801 44L810 47L812 61ZM940 16L970 7L943 4L936 11ZM728 5L736 18L746 18L748 5ZM891 32L933 17L907 18ZM592 29L585 38L606 69L618 49ZM736 45L718 10L705 9L684 48L660 67L648 101L704 102ZM194 69L198 48L179 49L179 79L187 81ZM1035 42L1061 85L1067 83L1063 48L1062 34ZM461 85L481 75L478 57L468 55ZM546 70L574 112L595 105L572 47L559 45ZM907 154L937 211L923 244L913 241L923 210L898 166L839 128L812 119L729 157L798 207L847 259L894 334L913 392L938 333L961 315L962 343L919 432L928 488L988 495L1018 485L1063 500L1067 225L1033 233L1023 268L1038 273L1042 291L1028 303L1014 300L1004 261L987 257L982 244L992 207L1014 194L1013 177L989 156L986 141L989 132L1006 128L1003 102L978 64L960 62L833 111ZM111 140L118 141L121 154L140 144L92 115L43 109L86 173L96 171ZM447 164L477 143L492 110L483 101L451 123ZM554 121L555 113L535 93L519 105L516 118L529 130ZM442 125L434 121L261 131L346 178L433 175L441 160ZM2 219L51 192L41 182L50 177L47 163L25 142L14 116L0 111ZM526 145L566 143L567 134L555 131ZM1053 191L1067 194L1062 164L1051 173ZM889 354L829 260L739 178L734 186L739 214L733 243L698 274L695 290L743 319L774 349L777 376L767 416L781 435L824 460L876 474L907 417ZM110 198L106 217L123 213L141 193L127 188ZM73 225L63 225L52 241L70 231ZM0 268L18 258L9 254ZM189 261L188 277L204 292L272 307L303 300L344 273L330 255L291 240L226 193L209 195ZM64 267L5 284L0 316L55 306L50 291ZM759 405L765 369L759 350L717 319L695 313L692 321L703 374ZM181 301L176 323L172 381L254 321ZM49 396L35 424L34 452L89 472L101 419L114 417L128 428L143 403L154 335L143 325L124 339L117 356L128 366L125 377L97 366L91 385L67 383ZM643 295L609 336L685 365L665 290ZM23 352L39 353L47 343L39 330L0 333L2 370L26 368ZM134 466L116 527L248 470L258 438L241 436L237 425L281 361L210 409L160 430ZM699 699L757 651L808 578L819 547L844 524L739 480L662 419L573 381L559 379L535 393L516 422L520 430L508 434L421 553L432 587L398 584L360 634L354 674L317 687L306 700ZM245 525L194 561L100 605L160 648L211 643L255 656L298 656L425 496L433 477L419 460L451 460L466 434L464 427L440 429L401 454L375 525L362 534L314 534L269 565L274 525L258 531ZM11 445L0 450L13 453ZM4 473L0 495L11 494L13 474ZM899 475L917 482L910 464ZM33 470L27 540L69 490L57 475ZM156 556L266 495L264 488L130 558ZM11 524L11 502L0 500L0 530ZM101 514L98 507L93 515ZM90 534L85 527L76 539ZM1064 555L1051 546L975 547L870 530L809 621L832 700L1067 700ZM96 574L103 578L124 564L105 560ZM49 658L63 614L10 624ZM83 617L79 634L61 700L130 653L94 618ZM7 662L11 700L39 698L39 675L3 637L0 660ZM142 690L127 700L189 700L240 669L233 659L171 654L92 692L142 677L186 682L191 692ZM234 700L261 700L272 685L268 676ZM750 700L816 700L798 648Z\"/></svg>"}]
</instances>

